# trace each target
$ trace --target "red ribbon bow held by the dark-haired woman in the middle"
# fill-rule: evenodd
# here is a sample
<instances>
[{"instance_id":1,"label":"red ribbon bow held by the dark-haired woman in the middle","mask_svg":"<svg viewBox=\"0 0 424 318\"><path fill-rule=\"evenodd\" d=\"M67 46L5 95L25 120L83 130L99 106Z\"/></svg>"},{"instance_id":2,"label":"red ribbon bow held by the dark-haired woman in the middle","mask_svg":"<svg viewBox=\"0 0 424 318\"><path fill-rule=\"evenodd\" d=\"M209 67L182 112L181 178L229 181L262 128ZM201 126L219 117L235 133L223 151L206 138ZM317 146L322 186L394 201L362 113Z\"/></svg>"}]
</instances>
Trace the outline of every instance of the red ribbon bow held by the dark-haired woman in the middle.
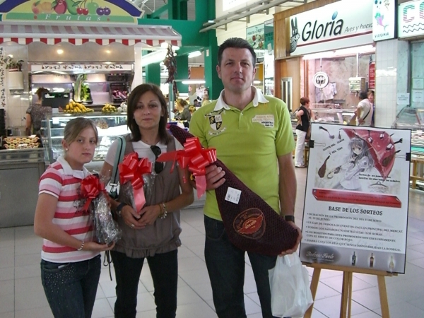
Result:
<instances>
[{"instance_id":1,"label":"red ribbon bow held by the dark-haired woman in the middle","mask_svg":"<svg viewBox=\"0 0 424 318\"><path fill-rule=\"evenodd\" d=\"M146 197L143 191L143 175L152 172L152 163L147 158L141 158L137 153L130 153L124 157L122 163L118 165L119 169L119 182L131 182L134 190L134 204L136 205L136 212L139 212L146 204Z\"/></svg>"}]
</instances>

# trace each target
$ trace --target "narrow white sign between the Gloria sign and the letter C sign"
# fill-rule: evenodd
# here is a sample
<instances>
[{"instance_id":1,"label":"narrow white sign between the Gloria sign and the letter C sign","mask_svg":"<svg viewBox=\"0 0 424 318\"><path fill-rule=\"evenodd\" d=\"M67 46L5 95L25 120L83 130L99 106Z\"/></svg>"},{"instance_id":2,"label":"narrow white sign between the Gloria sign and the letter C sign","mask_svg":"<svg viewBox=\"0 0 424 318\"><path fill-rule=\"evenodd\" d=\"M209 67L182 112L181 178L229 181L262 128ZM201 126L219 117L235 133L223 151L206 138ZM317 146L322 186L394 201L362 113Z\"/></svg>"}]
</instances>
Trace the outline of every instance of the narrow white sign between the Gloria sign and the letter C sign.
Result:
<instances>
[{"instance_id":1,"label":"narrow white sign between the Gloria sign and the letter C sign","mask_svg":"<svg viewBox=\"0 0 424 318\"><path fill-rule=\"evenodd\" d=\"M394 38L396 0L372 1L372 38L375 41Z\"/></svg>"}]
</instances>

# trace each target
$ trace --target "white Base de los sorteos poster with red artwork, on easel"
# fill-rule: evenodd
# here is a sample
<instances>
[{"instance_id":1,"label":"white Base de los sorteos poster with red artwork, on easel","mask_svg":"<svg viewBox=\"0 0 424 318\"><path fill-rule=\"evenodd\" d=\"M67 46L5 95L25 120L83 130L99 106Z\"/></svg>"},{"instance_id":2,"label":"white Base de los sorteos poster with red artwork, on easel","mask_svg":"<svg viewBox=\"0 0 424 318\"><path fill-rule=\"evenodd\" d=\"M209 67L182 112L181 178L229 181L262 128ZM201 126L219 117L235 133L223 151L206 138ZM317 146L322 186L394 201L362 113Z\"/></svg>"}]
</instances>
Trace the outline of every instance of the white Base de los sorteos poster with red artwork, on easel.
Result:
<instances>
[{"instance_id":1,"label":"white Base de los sorteos poster with red artwork, on easel","mask_svg":"<svg viewBox=\"0 0 424 318\"><path fill-rule=\"evenodd\" d=\"M411 131L312 124L300 259L405 272Z\"/></svg>"}]
</instances>

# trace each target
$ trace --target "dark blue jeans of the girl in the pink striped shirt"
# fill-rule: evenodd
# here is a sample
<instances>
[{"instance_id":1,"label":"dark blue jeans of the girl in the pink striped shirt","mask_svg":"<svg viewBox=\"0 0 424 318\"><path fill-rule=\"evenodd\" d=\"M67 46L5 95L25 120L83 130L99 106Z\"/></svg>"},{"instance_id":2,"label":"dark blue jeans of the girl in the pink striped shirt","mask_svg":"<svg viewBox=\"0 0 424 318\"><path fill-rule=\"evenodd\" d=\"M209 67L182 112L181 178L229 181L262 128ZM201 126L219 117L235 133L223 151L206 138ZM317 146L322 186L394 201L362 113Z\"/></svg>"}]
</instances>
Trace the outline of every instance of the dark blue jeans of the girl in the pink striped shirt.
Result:
<instances>
[{"instance_id":1,"label":"dark blue jeans of the girl in the pink striped shirt","mask_svg":"<svg viewBox=\"0 0 424 318\"><path fill-rule=\"evenodd\" d=\"M100 255L65 264L41 260L41 282L55 318L91 317L100 268Z\"/></svg>"}]
</instances>

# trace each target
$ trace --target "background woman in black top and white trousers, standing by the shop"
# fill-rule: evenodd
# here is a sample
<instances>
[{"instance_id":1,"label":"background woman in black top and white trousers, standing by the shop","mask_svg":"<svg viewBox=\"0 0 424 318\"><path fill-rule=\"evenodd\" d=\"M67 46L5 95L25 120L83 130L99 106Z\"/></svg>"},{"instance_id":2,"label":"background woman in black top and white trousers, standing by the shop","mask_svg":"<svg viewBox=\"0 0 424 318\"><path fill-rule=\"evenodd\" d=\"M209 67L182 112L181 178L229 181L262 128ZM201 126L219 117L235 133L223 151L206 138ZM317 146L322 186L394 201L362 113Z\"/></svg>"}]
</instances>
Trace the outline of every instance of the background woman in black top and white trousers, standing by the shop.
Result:
<instances>
[{"instance_id":1,"label":"background woman in black top and white trousers, standing by the shop","mask_svg":"<svg viewBox=\"0 0 424 318\"><path fill-rule=\"evenodd\" d=\"M311 110L309 98L300 98L300 108L296 112L298 126L296 126L296 151L295 151L295 167L304 168L305 159L303 151L305 150L305 139L311 126ZM308 136L309 137L309 136Z\"/></svg>"}]
</instances>

